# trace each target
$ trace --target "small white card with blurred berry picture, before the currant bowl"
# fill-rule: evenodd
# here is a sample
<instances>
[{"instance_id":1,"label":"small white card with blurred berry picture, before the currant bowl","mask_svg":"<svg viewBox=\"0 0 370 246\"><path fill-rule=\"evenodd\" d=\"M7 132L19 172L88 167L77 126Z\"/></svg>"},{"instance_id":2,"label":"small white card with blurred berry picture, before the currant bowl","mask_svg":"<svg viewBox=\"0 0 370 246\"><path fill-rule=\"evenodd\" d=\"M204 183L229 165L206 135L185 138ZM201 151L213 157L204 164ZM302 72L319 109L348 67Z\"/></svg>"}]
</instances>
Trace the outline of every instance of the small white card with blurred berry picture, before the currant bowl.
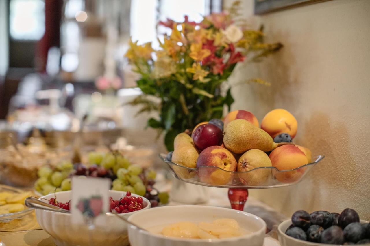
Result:
<instances>
[{"instance_id":1,"label":"small white card with blurred berry picture, before the currant bowl","mask_svg":"<svg viewBox=\"0 0 370 246\"><path fill-rule=\"evenodd\" d=\"M96 224L104 224L108 212L109 178L73 176L71 196L71 222L85 224L93 219Z\"/></svg>"}]
</instances>

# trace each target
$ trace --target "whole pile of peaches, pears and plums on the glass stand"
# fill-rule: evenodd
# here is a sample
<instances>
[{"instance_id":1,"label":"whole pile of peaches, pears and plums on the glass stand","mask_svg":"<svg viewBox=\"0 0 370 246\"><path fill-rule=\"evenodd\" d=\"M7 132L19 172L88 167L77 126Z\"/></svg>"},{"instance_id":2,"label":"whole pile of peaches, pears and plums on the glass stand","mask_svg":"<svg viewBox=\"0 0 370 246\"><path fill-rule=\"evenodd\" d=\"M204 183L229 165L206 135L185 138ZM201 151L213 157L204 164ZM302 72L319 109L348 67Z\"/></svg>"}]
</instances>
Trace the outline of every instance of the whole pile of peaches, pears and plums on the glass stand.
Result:
<instances>
[{"instance_id":1,"label":"whole pile of peaches, pears and plums on the glass stand","mask_svg":"<svg viewBox=\"0 0 370 246\"><path fill-rule=\"evenodd\" d=\"M174 167L181 178L198 175L201 182L225 185L235 182L265 185L270 177L279 182L291 183L302 177L307 163L311 163L311 151L295 145L292 140L297 133L297 120L284 109L275 109L266 114L261 122L245 110L235 110L225 119L212 119L195 126L191 136L186 132L175 137L174 151L167 160L188 168L204 166L218 168ZM292 170L277 172L277 170ZM299 168L302 167L302 168ZM247 172L259 168L252 172ZM237 175L232 172L238 171ZM243 173L240 173L243 172ZM234 177L235 176L235 177Z\"/></svg>"}]
</instances>

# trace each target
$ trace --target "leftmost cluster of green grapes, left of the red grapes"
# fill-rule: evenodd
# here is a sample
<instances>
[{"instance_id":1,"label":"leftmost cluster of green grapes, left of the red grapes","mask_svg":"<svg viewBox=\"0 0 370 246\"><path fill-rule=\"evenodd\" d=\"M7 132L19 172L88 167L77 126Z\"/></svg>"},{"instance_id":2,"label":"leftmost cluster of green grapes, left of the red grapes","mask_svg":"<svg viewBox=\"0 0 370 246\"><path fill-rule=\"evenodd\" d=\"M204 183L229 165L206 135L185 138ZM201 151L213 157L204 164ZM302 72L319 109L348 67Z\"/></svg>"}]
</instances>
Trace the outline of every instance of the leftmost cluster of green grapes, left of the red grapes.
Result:
<instances>
[{"instance_id":1,"label":"leftmost cluster of green grapes, left of the red grapes","mask_svg":"<svg viewBox=\"0 0 370 246\"><path fill-rule=\"evenodd\" d=\"M43 195L54 191L68 191L71 189L71 178L69 177L73 171L71 161L62 161L54 170L49 166L43 166L37 172L39 178L34 188Z\"/></svg>"}]
</instances>

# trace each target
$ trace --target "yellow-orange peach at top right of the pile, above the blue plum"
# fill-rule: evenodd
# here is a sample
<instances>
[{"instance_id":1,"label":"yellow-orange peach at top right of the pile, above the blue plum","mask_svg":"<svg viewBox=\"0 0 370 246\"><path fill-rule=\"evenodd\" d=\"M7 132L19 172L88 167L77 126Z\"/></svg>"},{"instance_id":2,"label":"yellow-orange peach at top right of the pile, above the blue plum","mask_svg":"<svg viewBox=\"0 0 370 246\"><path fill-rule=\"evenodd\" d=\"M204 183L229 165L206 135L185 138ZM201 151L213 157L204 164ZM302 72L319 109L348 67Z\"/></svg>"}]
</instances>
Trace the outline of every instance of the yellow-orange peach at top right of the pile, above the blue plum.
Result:
<instances>
[{"instance_id":1,"label":"yellow-orange peach at top right of the pile, above the blue plum","mask_svg":"<svg viewBox=\"0 0 370 246\"><path fill-rule=\"evenodd\" d=\"M296 118L285 109L274 109L263 117L261 129L265 130L272 138L280 133L288 133L292 139L297 133Z\"/></svg>"}]
</instances>

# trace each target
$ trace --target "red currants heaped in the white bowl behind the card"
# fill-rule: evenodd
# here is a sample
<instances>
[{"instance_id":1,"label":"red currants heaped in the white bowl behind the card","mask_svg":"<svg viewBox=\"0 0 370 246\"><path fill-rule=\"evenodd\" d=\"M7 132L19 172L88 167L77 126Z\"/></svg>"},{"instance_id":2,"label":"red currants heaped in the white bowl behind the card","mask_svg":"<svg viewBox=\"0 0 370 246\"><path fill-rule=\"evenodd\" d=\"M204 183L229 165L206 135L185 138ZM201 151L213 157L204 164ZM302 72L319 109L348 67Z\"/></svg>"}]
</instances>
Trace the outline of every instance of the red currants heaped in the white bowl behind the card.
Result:
<instances>
[{"instance_id":1,"label":"red currants heaped in the white bowl behind the card","mask_svg":"<svg viewBox=\"0 0 370 246\"><path fill-rule=\"evenodd\" d=\"M58 206L66 210L70 210L71 200L63 203L58 202L55 198L49 200L49 204ZM119 200L113 200L112 197L109 198L109 212L115 210L117 213L129 213L138 211L144 208L143 200L141 197L131 197L131 192L126 192L125 197Z\"/></svg>"}]
</instances>

